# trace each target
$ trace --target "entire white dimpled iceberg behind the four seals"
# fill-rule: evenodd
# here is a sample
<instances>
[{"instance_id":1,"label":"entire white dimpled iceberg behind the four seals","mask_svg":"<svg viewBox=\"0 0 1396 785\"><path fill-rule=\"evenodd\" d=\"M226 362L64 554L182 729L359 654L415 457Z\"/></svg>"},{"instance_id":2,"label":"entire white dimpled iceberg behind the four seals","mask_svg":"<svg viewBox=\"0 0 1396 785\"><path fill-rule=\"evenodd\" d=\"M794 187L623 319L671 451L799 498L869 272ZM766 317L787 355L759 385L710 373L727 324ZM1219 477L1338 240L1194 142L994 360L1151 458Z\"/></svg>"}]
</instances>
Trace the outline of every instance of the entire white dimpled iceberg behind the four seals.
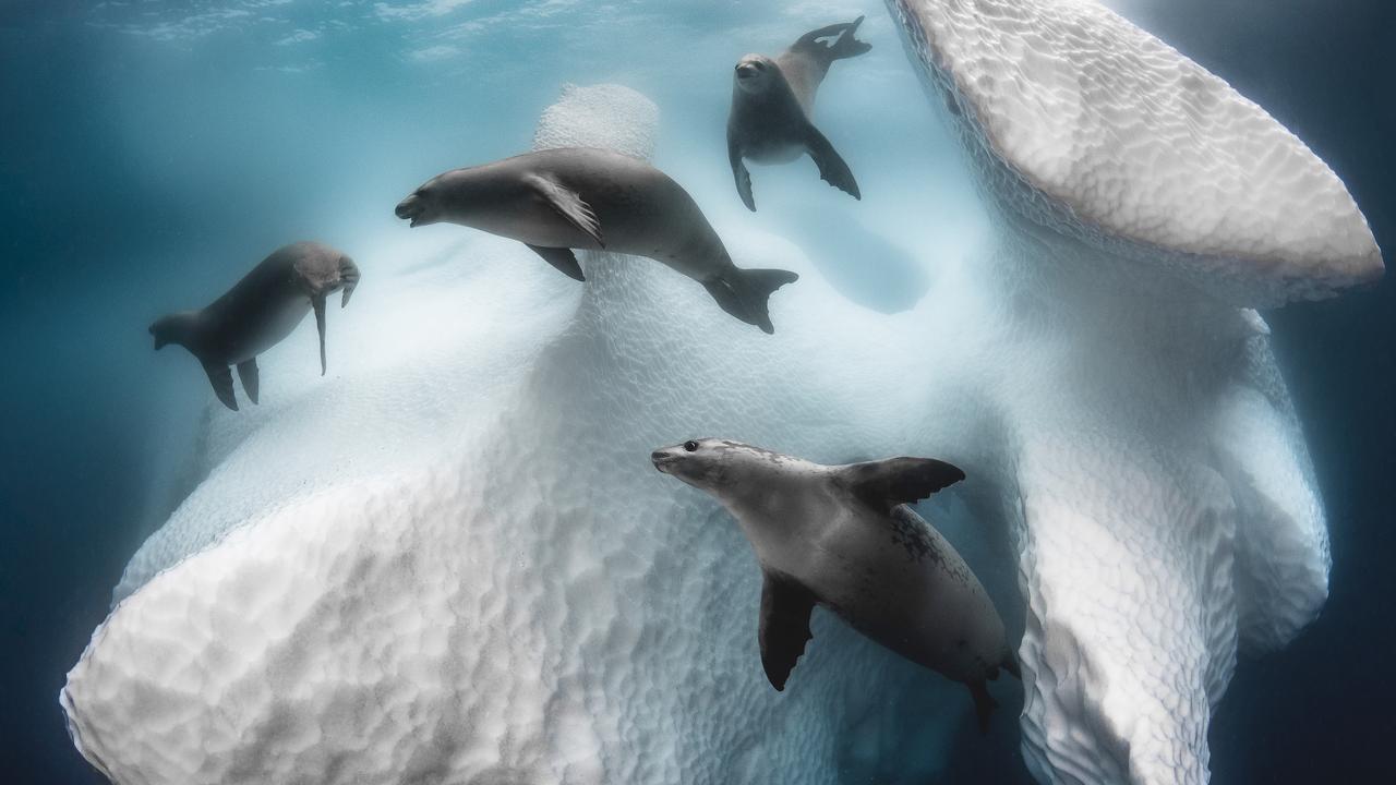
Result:
<instances>
[{"instance_id":1,"label":"entire white dimpled iceberg behind the four seals","mask_svg":"<svg viewBox=\"0 0 1396 785\"><path fill-rule=\"evenodd\" d=\"M959 501L1018 548L1032 771L1205 782L1238 647L1283 645L1328 591L1245 309L1374 279L1375 242L1298 140L1090 1L888 4L991 243L886 316L719 223L740 265L801 274L773 337L648 260L585 254L578 285L463 229L355 249L331 377L286 346L261 406L214 412L207 479L70 673L82 754L149 785L930 779L956 684L826 615L765 684L750 549L648 465L720 434L965 467L930 517ZM536 144L648 155L656 129L631 91L572 88Z\"/></svg>"}]
</instances>

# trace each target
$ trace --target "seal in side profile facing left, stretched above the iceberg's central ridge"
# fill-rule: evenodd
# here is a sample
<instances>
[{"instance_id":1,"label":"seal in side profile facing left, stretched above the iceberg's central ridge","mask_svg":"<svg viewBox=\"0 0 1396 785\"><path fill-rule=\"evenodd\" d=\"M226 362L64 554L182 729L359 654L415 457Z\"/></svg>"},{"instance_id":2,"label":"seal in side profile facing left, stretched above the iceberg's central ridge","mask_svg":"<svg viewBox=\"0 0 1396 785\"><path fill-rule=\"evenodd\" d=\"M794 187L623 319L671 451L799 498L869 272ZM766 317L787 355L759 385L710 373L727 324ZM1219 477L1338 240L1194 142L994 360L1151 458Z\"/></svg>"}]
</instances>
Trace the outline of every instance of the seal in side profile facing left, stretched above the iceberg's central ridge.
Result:
<instances>
[{"instance_id":1,"label":"seal in side profile facing left, stretched above the iceberg's central ridge","mask_svg":"<svg viewBox=\"0 0 1396 785\"><path fill-rule=\"evenodd\" d=\"M800 277L743 270L678 183L649 163L593 148L529 152L427 180L396 207L412 226L448 222L519 240L585 281L572 249L660 261L698 281L722 310L775 332L769 298Z\"/></svg>"}]
</instances>

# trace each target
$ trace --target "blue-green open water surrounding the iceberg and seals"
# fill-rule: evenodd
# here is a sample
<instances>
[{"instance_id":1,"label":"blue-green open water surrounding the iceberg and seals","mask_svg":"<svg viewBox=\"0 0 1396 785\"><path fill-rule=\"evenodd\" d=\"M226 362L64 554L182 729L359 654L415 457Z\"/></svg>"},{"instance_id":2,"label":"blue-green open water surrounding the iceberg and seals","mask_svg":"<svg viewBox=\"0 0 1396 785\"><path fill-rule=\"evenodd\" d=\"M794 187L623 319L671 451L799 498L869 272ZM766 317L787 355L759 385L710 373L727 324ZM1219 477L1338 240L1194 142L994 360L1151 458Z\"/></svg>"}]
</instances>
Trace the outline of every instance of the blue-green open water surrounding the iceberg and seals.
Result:
<instances>
[{"instance_id":1,"label":"blue-green open water surrounding the iceberg and seals","mask_svg":"<svg viewBox=\"0 0 1396 785\"><path fill-rule=\"evenodd\" d=\"M1392 247L1396 20L1379 0L1342 6L1138 0L1121 10L1291 127ZM801 161L755 169L761 212L745 212L726 165L730 64L857 14L874 49L835 66L819 126L854 166L863 201ZM655 163L716 226L783 236L866 309L909 309L940 260L990 230L942 108L927 101L877 1L0 7L7 781L101 781L74 751L54 696L127 559L180 501L188 479L169 478L180 476L208 402L187 358L149 352L145 325L212 299L286 242L355 253L408 232L392 215L399 198L444 169L528 149L539 113L570 82L651 98ZM875 261L853 258L859 249ZM371 285L373 260L359 261ZM1217 782L1390 768L1389 299L1382 286L1268 314L1328 504L1333 584L1315 627L1238 670L1212 726ZM1011 594L1011 567L960 545L986 582ZM1029 781L1012 722L963 739L923 751L944 756L946 781Z\"/></svg>"}]
</instances>

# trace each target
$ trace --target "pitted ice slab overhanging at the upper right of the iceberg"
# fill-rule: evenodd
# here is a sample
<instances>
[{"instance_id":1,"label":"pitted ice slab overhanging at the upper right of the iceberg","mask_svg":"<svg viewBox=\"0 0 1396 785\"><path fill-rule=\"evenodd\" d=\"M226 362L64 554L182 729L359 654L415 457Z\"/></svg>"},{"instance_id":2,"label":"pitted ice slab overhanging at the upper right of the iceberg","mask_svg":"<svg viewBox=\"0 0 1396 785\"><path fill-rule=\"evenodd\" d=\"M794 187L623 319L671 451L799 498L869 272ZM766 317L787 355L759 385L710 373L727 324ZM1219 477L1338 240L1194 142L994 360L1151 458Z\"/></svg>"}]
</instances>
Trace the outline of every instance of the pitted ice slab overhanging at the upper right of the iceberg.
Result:
<instances>
[{"instance_id":1,"label":"pitted ice slab overhanging at the upper right of the iceberg","mask_svg":"<svg viewBox=\"0 0 1396 785\"><path fill-rule=\"evenodd\" d=\"M1353 197L1263 109L1096 0L888 0L1027 219L1235 305L1382 275Z\"/></svg>"}]
</instances>

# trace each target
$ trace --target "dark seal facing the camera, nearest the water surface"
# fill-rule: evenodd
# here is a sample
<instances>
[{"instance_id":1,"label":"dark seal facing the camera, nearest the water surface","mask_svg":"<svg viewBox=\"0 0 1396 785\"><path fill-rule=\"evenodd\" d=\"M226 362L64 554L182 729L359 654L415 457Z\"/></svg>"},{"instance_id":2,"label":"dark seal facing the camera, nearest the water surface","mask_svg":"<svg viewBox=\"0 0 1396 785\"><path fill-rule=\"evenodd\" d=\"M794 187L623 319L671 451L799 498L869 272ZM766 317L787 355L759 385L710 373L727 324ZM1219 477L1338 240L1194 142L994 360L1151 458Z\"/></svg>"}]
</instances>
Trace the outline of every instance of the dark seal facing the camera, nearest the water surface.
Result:
<instances>
[{"instance_id":1,"label":"dark seal facing the camera, nearest the water surface","mask_svg":"<svg viewBox=\"0 0 1396 785\"><path fill-rule=\"evenodd\" d=\"M853 170L814 127L814 95L835 60L857 57L872 49L853 38L863 17L800 36L779 57L747 54L737 61L727 116L727 158L737 193L747 210L757 210L751 173L743 159L755 163L789 163L810 154L819 177L861 200ZM835 38L838 36L838 38ZM832 43L824 39L835 38Z\"/></svg>"}]
</instances>

